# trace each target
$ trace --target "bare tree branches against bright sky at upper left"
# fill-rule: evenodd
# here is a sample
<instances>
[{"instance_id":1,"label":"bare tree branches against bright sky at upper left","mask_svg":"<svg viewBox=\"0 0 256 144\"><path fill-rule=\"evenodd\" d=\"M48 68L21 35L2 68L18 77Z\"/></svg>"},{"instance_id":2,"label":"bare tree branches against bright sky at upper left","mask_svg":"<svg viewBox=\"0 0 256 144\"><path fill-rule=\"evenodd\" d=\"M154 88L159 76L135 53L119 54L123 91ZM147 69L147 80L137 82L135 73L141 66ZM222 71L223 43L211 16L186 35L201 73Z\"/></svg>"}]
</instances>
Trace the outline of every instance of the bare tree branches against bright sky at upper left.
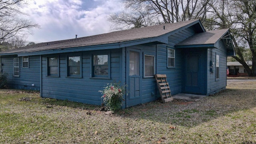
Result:
<instances>
[{"instance_id":1,"label":"bare tree branches against bright sky at upper left","mask_svg":"<svg viewBox=\"0 0 256 144\"><path fill-rule=\"evenodd\" d=\"M32 28L40 28L38 24L21 18L26 15L20 10L24 4L25 0L0 0L0 41L32 34Z\"/></svg>"}]
</instances>

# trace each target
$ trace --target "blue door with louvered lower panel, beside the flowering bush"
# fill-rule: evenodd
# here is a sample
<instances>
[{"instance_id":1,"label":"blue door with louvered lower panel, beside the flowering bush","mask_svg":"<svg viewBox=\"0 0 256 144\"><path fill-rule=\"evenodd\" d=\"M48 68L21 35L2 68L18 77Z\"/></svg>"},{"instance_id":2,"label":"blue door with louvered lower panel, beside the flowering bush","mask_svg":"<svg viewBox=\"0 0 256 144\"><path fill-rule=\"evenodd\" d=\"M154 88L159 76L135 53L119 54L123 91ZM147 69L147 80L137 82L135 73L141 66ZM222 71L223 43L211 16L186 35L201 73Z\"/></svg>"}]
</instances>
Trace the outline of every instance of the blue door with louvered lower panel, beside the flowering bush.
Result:
<instances>
[{"instance_id":1,"label":"blue door with louvered lower panel, beside the flowering bush","mask_svg":"<svg viewBox=\"0 0 256 144\"><path fill-rule=\"evenodd\" d=\"M128 83L126 107L140 104L141 84L141 56L140 50L129 49L126 57L126 81Z\"/></svg>"}]
</instances>

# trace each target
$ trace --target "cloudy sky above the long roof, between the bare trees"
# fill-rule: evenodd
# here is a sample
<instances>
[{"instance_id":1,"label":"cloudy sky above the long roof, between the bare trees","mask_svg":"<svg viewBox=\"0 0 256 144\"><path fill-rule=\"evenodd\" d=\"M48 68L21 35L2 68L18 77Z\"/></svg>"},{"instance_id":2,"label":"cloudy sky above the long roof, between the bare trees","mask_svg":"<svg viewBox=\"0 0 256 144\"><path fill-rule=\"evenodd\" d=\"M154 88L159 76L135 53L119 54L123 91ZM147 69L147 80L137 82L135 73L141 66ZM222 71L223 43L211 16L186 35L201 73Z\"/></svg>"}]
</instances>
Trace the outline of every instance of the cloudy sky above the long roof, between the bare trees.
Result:
<instances>
[{"instance_id":1,"label":"cloudy sky above the long roof, between the bare trees","mask_svg":"<svg viewBox=\"0 0 256 144\"><path fill-rule=\"evenodd\" d=\"M119 0L28 0L22 10L41 27L26 40L50 42L110 32L108 16L123 6Z\"/></svg>"}]
</instances>

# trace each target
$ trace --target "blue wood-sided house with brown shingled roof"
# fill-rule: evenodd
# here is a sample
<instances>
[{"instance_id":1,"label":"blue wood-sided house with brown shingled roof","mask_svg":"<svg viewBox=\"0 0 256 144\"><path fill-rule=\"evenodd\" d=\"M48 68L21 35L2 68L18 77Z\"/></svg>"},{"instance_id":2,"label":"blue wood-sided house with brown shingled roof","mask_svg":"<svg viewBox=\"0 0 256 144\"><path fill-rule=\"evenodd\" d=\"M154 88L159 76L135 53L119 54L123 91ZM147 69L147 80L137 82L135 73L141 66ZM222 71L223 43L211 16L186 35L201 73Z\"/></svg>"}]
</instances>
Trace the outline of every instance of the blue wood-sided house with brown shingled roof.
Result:
<instances>
[{"instance_id":1,"label":"blue wood-sided house with brown shingled roof","mask_svg":"<svg viewBox=\"0 0 256 144\"><path fill-rule=\"evenodd\" d=\"M107 83L126 84L124 107L159 97L154 74L166 74L171 94L209 95L226 88L228 29L206 31L200 20L43 42L0 52L8 87L46 98L100 105Z\"/></svg>"}]
</instances>

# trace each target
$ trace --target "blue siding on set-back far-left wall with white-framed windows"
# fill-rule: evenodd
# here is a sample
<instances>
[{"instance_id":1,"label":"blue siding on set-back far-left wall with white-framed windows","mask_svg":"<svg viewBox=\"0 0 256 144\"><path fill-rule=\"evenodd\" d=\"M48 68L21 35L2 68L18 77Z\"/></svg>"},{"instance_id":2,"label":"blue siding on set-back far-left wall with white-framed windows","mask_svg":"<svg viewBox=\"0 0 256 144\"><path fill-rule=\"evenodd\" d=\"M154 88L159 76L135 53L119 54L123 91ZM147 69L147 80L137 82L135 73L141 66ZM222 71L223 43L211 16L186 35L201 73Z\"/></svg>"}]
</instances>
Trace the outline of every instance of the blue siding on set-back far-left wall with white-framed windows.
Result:
<instances>
[{"instance_id":1,"label":"blue siding on set-back far-left wall with white-framed windows","mask_svg":"<svg viewBox=\"0 0 256 144\"><path fill-rule=\"evenodd\" d=\"M13 76L13 59L19 58L20 76ZM9 88L40 90L40 56L29 56L29 68L22 68L22 57L1 56L2 72L8 73L7 86ZM34 86L32 86L32 84Z\"/></svg>"}]
</instances>

